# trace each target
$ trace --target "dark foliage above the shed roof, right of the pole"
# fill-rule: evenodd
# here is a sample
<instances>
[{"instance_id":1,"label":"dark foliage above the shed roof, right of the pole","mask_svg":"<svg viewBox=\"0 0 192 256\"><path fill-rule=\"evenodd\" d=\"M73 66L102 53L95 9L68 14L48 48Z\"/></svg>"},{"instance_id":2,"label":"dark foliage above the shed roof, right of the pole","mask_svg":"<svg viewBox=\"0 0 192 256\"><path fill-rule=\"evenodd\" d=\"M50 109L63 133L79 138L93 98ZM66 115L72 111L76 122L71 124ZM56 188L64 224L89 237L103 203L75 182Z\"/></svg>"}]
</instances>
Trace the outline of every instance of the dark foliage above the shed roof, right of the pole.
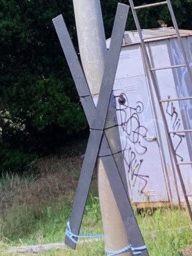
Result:
<instances>
[{"instance_id":1,"label":"dark foliage above the shed roof, right of the pole","mask_svg":"<svg viewBox=\"0 0 192 256\"><path fill-rule=\"evenodd\" d=\"M152 4L153 2L160 2L161 0L134 0L135 6L143 4ZM106 37L110 37L113 27L114 15L116 13L117 3L122 2L128 4L128 0L101 0L102 12L104 16ZM192 0L171 0L178 25L181 28L192 29L191 11ZM172 26L169 11L166 5L155 8L145 8L137 11L141 28L158 28L158 20L163 19ZM126 30L135 30L134 19L129 11L128 22Z\"/></svg>"}]
</instances>

